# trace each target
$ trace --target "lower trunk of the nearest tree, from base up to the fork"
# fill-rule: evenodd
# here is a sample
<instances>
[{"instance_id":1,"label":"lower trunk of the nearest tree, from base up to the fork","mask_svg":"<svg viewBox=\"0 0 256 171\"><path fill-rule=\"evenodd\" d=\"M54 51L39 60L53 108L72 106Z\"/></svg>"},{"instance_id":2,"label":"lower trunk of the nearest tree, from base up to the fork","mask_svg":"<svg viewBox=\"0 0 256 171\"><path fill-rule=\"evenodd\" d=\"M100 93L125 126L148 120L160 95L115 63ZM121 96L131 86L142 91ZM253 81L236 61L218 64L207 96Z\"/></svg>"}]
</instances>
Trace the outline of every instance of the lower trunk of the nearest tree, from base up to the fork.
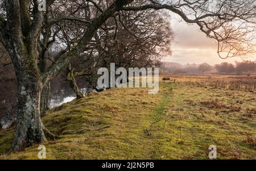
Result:
<instances>
[{"instance_id":1,"label":"lower trunk of the nearest tree, from base up to the fork","mask_svg":"<svg viewBox=\"0 0 256 171\"><path fill-rule=\"evenodd\" d=\"M42 83L31 76L18 77L18 113L15 139L11 151L22 151L35 143L46 141L40 119Z\"/></svg>"}]
</instances>

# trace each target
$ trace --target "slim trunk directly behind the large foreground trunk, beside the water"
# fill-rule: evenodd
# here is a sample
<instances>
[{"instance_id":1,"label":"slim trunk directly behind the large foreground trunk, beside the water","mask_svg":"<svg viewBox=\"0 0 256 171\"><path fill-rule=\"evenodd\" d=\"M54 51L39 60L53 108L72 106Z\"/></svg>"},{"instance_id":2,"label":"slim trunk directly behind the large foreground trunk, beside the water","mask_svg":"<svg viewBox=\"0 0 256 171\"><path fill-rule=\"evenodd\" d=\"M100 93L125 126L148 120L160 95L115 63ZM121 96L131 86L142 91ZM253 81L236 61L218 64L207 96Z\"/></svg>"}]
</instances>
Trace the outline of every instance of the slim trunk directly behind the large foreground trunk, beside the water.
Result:
<instances>
[{"instance_id":1,"label":"slim trunk directly behind the large foreground trunk, beside the water","mask_svg":"<svg viewBox=\"0 0 256 171\"><path fill-rule=\"evenodd\" d=\"M50 83L46 84L41 93L41 104L40 104L40 112L41 115L46 114L46 111L49 110L49 93L50 93Z\"/></svg>"}]
</instances>

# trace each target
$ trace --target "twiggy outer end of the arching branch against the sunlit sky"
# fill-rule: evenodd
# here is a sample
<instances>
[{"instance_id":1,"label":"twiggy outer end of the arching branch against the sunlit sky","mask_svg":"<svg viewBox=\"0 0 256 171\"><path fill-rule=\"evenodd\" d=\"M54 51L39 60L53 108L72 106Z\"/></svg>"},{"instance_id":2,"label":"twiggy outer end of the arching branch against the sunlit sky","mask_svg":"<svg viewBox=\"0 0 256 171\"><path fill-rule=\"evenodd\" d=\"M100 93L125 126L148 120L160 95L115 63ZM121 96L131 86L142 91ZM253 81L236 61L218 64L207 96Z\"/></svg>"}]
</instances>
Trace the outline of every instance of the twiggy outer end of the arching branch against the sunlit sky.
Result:
<instances>
[{"instance_id":1,"label":"twiggy outer end of the arching branch against the sunlit sky","mask_svg":"<svg viewBox=\"0 0 256 171\"><path fill-rule=\"evenodd\" d=\"M215 39L222 59L255 53L255 0L150 0L144 3L143 6L125 6L121 10L170 10L185 22L197 24L208 37Z\"/></svg>"}]
</instances>

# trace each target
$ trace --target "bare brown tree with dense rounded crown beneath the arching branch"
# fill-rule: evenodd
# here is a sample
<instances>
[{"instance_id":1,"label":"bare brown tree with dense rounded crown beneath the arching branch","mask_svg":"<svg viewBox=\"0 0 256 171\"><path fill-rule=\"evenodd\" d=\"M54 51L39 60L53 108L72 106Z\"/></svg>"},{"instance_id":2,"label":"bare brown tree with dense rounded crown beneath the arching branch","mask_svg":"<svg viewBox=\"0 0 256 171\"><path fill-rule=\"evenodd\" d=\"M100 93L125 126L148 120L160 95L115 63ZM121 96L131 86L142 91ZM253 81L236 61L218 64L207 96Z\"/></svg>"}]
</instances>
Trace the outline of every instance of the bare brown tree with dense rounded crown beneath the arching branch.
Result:
<instances>
[{"instance_id":1,"label":"bare brown tree with dense rounded crown beneath the arching branch","mask_svg":"<svg viewBox=\"0 0 256 171\"><path fill-rule=\"evenodd\" d=\"M95 42L91 43L88 53L73 60L68 68L67 80L76 97L84 97L76 78L84 78L89 87L98 90L97 78L93 76L97 75L98 68L108 68L110 62L127 70L129 67L158 66L162 56L171 52L173 34L167 16L154 10L121 11L105 22L105 26L111 29L100 28L93 37Z\"/></svg>"}]
</instances>

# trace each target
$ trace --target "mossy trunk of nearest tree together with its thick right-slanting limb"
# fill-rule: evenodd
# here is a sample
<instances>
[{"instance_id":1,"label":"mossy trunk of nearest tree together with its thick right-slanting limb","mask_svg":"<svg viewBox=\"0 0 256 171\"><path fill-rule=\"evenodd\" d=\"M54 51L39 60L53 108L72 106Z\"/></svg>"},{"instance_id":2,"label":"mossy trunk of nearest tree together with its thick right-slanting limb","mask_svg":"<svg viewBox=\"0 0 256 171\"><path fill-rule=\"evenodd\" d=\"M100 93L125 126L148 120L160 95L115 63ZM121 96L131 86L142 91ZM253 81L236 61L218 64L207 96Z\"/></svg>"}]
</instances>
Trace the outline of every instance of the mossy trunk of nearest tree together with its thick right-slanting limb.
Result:
<instances>
[{"instance_id":1,"label":"mossy trunk of nearest tree together with its thick right-slanting limb","mask_svg":"<svg viewBox=\"0 0 256 171\"><path fill-rule=\"evenodd\" d=\"M8 51L14 65L18 82L18 111L16 132L11 151L20 151L34 143L46 141L46 136L55 138L44 127L40 119L40 100L44 86L54 78L61 69L84 52L84 47L90 43L95 32L110 18L114 12L133 0L116 0L101 15L88 24L87 30L81 36L79 43L70 51L67 49L57 53L54 64L44 72L38 66L40 35L43 32L44 11L39 11L38 1L6 0L5 9L0 14L0 41ZM31 10L30 3L33 9ZM47 1L46 10L53 5L54 0ZM31 12L32 11L32 12ZM3 16L5 13L5 16ZM54 25L52 25L54 27ZM65 55L64 55L65 54ZM73 79L73 78L72 78ZM76 85L76 84L75 84ZM79 88L75 86L77 90ZM79 91L77 91L79 95Z\"/></svg>"}]
</instances>

